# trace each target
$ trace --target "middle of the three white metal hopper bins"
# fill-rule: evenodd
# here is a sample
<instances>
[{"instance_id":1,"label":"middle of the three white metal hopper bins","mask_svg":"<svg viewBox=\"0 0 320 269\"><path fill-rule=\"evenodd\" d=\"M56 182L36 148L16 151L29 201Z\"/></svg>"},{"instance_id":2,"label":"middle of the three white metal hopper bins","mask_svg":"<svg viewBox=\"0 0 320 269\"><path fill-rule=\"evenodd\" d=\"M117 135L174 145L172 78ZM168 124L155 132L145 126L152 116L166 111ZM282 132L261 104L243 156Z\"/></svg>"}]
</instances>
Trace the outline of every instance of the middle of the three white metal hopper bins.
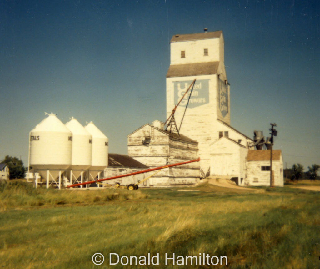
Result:
<instances>
[{"instance_id":1,"label":"middle of the three white metal hopper bins","mask_svg":"<svg viewBox=\"0 0 320 269\"><path fill-rule=\"evenodd\" d=\"M72 161L68 173L72 181L73 176L77 179L91 166L92 135L73 117L66 127L72 132Z\"/></svg>"}]
</instances>

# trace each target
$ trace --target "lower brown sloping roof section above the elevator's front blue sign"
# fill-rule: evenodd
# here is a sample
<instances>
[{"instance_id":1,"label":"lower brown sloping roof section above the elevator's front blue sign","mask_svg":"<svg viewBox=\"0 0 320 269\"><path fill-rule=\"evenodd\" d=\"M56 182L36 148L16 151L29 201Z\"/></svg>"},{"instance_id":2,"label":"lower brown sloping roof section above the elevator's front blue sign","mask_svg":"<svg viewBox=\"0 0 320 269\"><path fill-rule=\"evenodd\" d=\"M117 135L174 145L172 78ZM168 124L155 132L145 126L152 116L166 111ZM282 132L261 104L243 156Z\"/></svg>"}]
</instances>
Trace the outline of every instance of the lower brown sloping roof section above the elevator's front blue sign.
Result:
<instances>
[{"instance_id":1,"label":"lower brown sloping roof section above the elevator's front blue sign","mask_svg":"<svg viewBox=\"0 0 320 269\"><path fill-rule=\"evenodd\" d=\"M170 65L166 77L217 74L219 61Z\"/></svg>"}]
</instances>

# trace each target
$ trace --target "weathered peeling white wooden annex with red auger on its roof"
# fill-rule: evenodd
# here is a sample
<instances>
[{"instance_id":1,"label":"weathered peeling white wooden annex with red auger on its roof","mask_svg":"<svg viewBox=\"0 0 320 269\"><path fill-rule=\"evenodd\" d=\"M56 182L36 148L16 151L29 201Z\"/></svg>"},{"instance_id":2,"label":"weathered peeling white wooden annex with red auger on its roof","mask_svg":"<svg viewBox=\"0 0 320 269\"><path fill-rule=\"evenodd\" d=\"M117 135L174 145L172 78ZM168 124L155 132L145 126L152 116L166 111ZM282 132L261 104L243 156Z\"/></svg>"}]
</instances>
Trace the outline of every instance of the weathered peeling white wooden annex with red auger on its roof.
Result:
<instances>
[{"instance_id":1,"label":"weathered peeling white wooden annex with red auger on its roof","mask_svg":"<svg viewBox=\"0 0 320 269\"><path fill-rule=\"evenodd\" d=\"M128 135L128 155L150 168L198 158L198 142L163 129L163 123L145 124ZM148 186L192 185L200 180L200 164L193 162L160 170Z\"/></svg>"}]
</instances>

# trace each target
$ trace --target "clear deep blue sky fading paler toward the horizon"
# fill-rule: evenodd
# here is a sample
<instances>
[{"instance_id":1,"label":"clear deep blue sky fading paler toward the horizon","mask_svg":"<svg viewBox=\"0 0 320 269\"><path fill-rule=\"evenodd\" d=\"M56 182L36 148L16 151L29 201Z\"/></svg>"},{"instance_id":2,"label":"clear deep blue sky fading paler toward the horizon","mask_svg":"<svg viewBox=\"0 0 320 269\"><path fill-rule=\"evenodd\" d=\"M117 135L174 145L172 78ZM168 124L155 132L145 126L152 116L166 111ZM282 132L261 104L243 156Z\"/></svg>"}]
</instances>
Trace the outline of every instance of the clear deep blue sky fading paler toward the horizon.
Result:
<instances>
[{"instance_id":1,"label":"clear deep blue sky fading paler toward the horizon","mask_svg":"<svg viewBox=\"0 0 320 269\"><path fill-rule=\"evenodd\" d=\"M28 164L29 132L55 113L93 123L109 152L166 118L174 34L222 30L231 126L276 123L284 167L320 164L320 3L0 0L0 159Z\"/></svg>"}]
</instances>

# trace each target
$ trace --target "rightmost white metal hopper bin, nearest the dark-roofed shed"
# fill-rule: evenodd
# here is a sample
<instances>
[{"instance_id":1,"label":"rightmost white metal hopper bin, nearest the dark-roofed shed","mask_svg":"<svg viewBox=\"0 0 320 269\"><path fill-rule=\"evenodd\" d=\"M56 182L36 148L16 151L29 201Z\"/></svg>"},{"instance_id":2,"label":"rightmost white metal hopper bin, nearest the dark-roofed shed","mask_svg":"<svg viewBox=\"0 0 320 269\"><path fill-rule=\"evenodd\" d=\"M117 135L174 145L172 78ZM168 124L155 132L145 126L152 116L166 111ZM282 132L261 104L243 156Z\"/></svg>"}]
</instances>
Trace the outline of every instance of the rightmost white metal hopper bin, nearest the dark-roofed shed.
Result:
<instances>
[{"instance_id":1,"label":"rightmost white metal hopper bin, nearest the dark-roofed shed","mask_svg":"<svg viewBox=\"0 0 320 269\"><path fill-rule=\"evenodd\" d=\"M108 137L92 121L84 128L92 135L92 161L89 170L92 178L95 178L108 166Z\"/></svg>"}]
</instances>

